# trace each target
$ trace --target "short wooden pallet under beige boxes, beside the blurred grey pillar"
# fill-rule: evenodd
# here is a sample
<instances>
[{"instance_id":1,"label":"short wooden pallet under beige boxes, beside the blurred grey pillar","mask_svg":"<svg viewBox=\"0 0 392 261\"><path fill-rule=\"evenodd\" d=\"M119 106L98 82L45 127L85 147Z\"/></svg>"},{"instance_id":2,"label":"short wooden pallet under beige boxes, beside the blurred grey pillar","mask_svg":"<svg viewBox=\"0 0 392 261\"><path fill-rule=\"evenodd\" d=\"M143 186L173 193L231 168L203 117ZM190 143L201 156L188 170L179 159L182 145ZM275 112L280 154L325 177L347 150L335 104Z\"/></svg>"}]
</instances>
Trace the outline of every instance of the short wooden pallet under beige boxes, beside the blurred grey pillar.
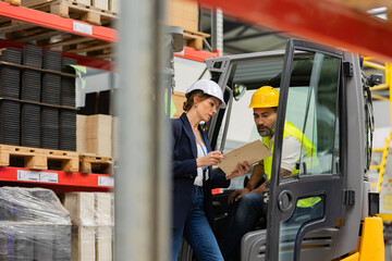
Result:
<instances>
[{"instance_id":1,"label":"short wooden pallet under beige boxes, beside the blurred grey pillar","mask_svg":"<svg viewBox=\"0 0 392 261\"><path fill-rule=\"evenodd\" d=\"M79 156L81 173L113 174L113 159L109 157L97 157L91 153Z\"/></svg>"}]
</instances>

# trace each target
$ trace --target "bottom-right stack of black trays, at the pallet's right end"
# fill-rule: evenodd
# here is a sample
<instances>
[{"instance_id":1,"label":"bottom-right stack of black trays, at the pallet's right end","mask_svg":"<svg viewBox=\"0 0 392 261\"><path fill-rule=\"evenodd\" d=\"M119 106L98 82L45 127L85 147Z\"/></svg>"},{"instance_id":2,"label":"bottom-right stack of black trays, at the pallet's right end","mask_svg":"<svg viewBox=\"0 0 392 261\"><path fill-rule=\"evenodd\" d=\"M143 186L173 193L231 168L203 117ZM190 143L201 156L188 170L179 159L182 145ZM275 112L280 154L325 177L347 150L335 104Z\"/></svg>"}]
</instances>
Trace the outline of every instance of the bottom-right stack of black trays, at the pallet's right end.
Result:
<instances>
[{"instance_id":1,"label":"bottom-right stack of black trays, at the pallet's right end","mask_svg":"<svg viewBox=\"0 0 392 261\"><path fill-rule=\"evenodd\" d=\"M76 151L76 111L60 111L60 149Z\"/></svg>"}]
</instances>

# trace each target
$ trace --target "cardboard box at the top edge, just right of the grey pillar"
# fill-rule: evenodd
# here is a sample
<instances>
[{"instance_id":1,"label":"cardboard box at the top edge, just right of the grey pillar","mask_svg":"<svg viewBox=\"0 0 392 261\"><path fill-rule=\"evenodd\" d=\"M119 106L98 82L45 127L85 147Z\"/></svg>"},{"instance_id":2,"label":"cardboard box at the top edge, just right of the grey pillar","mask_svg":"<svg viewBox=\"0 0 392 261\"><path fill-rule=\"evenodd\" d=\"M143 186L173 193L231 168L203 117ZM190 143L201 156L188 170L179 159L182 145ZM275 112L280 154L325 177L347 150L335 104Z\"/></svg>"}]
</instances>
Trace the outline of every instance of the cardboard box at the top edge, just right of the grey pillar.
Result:
<instances>
[{"instance_id":1,"label":"cardboard box at the top edge, just right of the grey pillar","mask_svg":"<svg viewBox=\"0 0 392 261\"><path fill-rule=\"evenodd\" d=\"M180 26L185 30L198 30L198 4L195 1L170 0L168 1L168 25Z\"/></svg>"}]
</instances>

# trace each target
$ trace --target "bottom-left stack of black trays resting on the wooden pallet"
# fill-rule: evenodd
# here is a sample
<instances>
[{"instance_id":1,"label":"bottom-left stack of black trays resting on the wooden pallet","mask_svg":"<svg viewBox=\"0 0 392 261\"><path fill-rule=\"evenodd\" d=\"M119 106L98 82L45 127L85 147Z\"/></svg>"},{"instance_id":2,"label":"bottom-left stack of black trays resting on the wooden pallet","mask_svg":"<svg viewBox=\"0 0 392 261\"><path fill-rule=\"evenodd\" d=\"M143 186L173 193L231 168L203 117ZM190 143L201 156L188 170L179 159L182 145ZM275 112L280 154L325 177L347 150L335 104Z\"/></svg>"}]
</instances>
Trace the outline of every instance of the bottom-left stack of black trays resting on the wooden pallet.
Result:
<instances>
[{"instance_id":1,"label":"bottom-left stack of black trays resting on the wooden pallet","mask_svg":"<svg viewBox=\"0 0 392 261\"><path fill-rule=\"evenodd\" d=\"M21 102L0 100L0 144L21 145Z\"/></svg>"}]
</instances>

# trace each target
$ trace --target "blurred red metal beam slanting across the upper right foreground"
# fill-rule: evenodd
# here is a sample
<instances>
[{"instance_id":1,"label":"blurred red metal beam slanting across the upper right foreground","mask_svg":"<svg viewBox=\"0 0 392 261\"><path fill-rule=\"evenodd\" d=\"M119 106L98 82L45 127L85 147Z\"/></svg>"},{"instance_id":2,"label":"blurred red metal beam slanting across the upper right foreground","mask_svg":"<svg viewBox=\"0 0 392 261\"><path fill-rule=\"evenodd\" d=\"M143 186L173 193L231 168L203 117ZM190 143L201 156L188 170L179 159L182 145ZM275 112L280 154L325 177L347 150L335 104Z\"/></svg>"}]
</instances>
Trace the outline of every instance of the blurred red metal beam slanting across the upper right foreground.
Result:
<instances>
[{"instance_id":1,"label":"blurred red metal beam slanting across the upper right foreground","mask_svg":"<svg viewBox=\"0 0 392 261\"><path fill-rule=\"evenodd\" d=\"M327 0L197 0L230 16L322 45L392 61L391 23Z\"/></svg>"}]
</instances>

